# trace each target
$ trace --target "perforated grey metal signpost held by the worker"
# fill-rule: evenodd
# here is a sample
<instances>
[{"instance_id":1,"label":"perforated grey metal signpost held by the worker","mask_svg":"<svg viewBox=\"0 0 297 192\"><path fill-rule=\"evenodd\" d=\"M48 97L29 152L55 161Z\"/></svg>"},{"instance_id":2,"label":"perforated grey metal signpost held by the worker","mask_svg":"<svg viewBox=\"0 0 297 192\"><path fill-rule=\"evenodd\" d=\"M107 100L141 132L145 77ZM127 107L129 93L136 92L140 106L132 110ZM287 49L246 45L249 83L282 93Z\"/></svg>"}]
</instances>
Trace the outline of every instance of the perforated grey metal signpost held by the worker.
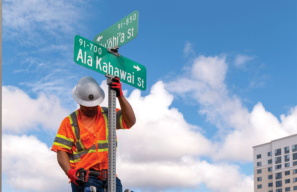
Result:
<instances>
[{"instance_id":1,"label":"perforated grey metal signpost held by the worker","mask_svg":"<svg viewBox=\"0 0 297 192\"><path fill-rule=\"evenodd\" d=\"M106 73L107 84L113 75ZM116 192L116 91L108 88L108 192Z\"/></svg>"}]
</instances>

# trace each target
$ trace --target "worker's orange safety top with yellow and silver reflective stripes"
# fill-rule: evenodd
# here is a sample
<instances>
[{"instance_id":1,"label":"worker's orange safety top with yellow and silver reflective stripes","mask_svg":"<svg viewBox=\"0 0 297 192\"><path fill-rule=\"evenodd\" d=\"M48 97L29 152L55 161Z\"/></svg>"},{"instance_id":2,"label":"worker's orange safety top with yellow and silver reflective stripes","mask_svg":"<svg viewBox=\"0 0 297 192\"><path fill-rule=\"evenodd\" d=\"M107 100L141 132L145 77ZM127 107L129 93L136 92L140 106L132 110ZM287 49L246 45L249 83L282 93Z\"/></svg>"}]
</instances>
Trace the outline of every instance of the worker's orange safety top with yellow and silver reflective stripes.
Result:
<instances>
[{"instance_id":1,"label":"worker's orange safety top with yellow and silver reflective stripes","mask_svg":"<svg viewBox=\"0 0 297 192\"><path fill-rule=\"evenodd\" d=\"M98 106L94 133L86 130L80 122L80 109L66 117L58 130L52 151L67 152L72 169L89 169L99 164L108 168L108 108ZM127 128L121 110L116 109L116 129ZM117 142L117 141L116 141Z\"/></svg>"}]
</instances>

